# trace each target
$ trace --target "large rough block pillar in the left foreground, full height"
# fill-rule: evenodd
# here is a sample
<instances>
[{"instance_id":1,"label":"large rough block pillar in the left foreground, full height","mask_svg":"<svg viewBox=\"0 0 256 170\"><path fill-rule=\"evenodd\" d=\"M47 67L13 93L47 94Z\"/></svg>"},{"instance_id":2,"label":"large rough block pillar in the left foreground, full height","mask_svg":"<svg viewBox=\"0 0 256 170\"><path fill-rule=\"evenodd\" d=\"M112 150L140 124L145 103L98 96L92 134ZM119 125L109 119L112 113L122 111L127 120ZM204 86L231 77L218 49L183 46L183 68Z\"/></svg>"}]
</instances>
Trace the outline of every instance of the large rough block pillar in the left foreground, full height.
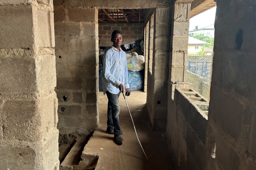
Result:
<instances>
[{"instance_id":1,"label":"large rough block pillar in the left foreground, full height","mask_svg":"<svg viewBox=\"0 0 256 170\"><path fill-rule=\"evenodd\" d=\"M0 169L58 170L53 5L0 6Z\"/></svg>"}]
</instances>

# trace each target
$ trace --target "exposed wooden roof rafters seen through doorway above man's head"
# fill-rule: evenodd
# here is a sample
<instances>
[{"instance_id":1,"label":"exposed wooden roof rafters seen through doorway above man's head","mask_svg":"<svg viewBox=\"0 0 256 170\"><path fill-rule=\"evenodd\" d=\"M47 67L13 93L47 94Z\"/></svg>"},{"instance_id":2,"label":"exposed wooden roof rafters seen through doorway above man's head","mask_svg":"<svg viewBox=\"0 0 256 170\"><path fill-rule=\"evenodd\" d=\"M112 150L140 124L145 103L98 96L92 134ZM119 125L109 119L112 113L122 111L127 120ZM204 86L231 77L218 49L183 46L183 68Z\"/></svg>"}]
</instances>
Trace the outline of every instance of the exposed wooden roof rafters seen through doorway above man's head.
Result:
<instances>
[{"instance_id":1,"label":"exposed wooden roof rafters seen through doorway above man's head","mask_svg":"<svg viewBox=\"0 0 256 170\"><path fill-rule=\"evenodd\" d=\"M144 23L144 9L99 9L99 23Z\"/></svg>"}]
</instances>

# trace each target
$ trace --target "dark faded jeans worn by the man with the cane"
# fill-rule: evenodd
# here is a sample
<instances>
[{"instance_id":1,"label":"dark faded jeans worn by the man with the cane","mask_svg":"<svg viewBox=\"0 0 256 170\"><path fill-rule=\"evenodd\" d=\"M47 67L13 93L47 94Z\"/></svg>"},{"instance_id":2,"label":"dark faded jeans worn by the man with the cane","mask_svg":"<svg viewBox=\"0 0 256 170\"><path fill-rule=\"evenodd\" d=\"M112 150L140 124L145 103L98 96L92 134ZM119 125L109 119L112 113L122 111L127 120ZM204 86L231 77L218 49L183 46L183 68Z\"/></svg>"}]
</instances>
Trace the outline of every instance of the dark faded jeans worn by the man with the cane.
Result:
<instances>
[{"instance_id":1,"label":"dark faded jeans worn by the man with the cane","mask_svg":"<svg viewBox=\"0 0 256 170\"><path fill-rule=\"evenodd\" d=\"M108 120L107 120L107 131L111 131L114 129L115 136L120 134L120 126L119 126L119 114L120 114L120 106L119 106L119 96L118 94L112 94L106 91L108 97Z\"/></svg>"}]
</instances>

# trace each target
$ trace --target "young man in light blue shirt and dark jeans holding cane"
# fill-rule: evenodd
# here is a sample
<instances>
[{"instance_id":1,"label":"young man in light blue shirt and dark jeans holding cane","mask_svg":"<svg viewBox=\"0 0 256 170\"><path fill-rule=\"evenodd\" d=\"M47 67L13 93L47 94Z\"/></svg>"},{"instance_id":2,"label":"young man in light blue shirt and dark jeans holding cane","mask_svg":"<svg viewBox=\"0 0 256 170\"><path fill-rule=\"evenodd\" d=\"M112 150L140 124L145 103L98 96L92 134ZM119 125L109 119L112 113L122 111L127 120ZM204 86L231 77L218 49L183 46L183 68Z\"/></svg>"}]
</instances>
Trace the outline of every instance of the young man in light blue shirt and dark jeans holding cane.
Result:
<instances>
[{"instance_id":1,"label":"young man in light blue shirt and dark jeans holding cane","mask_svg":"<svg viewBox=\"0 0 256 170\"><path fill-rule=\"evenodd\" d=\"M125 95L130 95L128 84L128 69L126 53L120 48L122 44L122 34L114 30L111 35L113 46L107 50L103 57L102 86L103 93L108 97L107 110L107 134L114 134L116 143L124 142L121 137L123 132L119 126L119 96L120 92L126 90Z\"/></svg>"}]
</instances>

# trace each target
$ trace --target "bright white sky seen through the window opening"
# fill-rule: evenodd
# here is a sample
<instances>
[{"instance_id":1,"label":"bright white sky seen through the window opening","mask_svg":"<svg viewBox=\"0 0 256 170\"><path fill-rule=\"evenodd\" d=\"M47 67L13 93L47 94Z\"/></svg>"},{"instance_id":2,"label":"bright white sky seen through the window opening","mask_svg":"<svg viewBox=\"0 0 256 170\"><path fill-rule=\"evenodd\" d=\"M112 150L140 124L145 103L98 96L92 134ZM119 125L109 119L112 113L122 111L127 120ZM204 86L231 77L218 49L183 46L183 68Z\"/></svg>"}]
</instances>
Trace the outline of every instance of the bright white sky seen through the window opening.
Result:
<instances>
[{"instance_id":1,"label":"bright white sky seen through the window opening","mask_svg":"<svg viewBox=\"0 0 256 170\"><path fill-rule=\"evenodd\" d=\"M189 30L193 30L195 26L198 28L206 27L214 24L216 7L213 7L201 14L198 14L190 19Z\"/></svg>"}]
</instances>

